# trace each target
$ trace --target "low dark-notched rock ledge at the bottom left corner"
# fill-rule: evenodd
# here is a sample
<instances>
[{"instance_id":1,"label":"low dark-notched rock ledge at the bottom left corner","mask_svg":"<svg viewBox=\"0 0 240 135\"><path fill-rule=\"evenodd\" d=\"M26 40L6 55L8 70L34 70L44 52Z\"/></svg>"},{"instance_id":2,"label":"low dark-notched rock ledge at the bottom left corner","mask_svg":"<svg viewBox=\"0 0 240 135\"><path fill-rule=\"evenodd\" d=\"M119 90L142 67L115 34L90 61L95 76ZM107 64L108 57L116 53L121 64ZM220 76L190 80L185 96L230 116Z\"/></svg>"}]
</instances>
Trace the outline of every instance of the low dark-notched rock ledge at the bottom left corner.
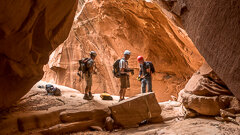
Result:
<instances>
[{"instance_id":1,"label":"low dark-notched rock ledge at the bottom left corner","mask_svg":"<svg viewBox=\"0 0 240 135\"><path fill-rule=\"evenodd\" d=\"M23 134L54 126L61 123L59 118L61 111L63 110L8 112L9 115L1 113L0 134Z\"/></svg>"}]
</instances>

